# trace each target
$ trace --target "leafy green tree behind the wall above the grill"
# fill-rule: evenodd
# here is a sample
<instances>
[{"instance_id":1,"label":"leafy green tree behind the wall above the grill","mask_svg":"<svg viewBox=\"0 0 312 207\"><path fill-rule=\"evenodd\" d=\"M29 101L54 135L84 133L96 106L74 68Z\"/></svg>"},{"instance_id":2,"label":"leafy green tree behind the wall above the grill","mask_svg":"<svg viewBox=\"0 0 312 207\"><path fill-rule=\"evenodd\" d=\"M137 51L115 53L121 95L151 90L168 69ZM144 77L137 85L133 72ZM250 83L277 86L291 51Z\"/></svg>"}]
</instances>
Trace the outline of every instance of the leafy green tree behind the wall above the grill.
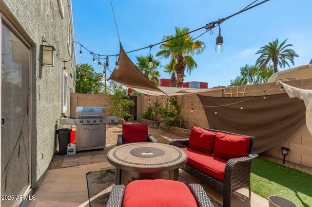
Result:
<instances>
[{"instance_id":1,"label":"leafy green tree behind the wall above the grill","mask_svg":"<svg viewBox=\"0 0 312 207\"><path fill-rule=\"evenodd\" d=\"M83 69L81 69L83 68ZM76 92L77 93L103 93L104 83L102 82L103 75L97 73L94 68L87 64L78 64L76 67Z\"/></svg>"}]
</instances>

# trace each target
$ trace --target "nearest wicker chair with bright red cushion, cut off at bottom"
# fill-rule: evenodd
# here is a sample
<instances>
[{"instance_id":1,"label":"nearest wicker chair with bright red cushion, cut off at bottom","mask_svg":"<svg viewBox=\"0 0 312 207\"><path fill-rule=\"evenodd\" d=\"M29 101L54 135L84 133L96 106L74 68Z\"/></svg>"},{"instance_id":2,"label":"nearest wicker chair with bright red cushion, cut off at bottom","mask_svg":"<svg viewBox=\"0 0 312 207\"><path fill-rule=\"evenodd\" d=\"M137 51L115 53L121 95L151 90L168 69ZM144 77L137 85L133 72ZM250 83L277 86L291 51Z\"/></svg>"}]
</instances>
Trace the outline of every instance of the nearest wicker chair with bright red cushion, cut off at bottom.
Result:
<instances>
[{"instance_id":1,"label":"nearest wicker chair with bright red cushion, cut off at bottom","mask_svg":"<svg viewBox=\"0 0 312 207\"><path fill-rule=\"evenodd\" d=\"M199 184L174 180L136 180L113 186L107 207L214 207Z\"/></svg>"}]
</instances>

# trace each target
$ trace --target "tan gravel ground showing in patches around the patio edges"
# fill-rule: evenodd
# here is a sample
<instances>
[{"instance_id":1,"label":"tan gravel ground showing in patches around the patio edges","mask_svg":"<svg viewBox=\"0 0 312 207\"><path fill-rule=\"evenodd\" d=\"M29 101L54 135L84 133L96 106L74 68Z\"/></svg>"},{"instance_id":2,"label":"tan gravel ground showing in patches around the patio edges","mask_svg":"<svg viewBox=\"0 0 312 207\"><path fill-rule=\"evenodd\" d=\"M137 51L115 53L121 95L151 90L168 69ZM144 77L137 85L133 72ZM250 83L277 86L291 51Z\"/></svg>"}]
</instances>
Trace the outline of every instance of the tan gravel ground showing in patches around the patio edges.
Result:
<instances>
[{"instance_id":1,"label":"tan gravel ground showing in patches around the patio edges","mask_svg":"<svg viewBox=\"0 0 312 207\"><path fill-rule=\"evenodd\" d=\"M138 123L137 121L133 121L132 123ZM169 142L174 139L174 138L178 138L178 136L176 136L175 134L166 132L162 129L159 129L157 126L149 126L148 128L148 132L149 134L152 134L154 138L157 139L157 142L159 143L165 143L165 144L169 144ZM115 145L117 143L117 135L118 134L122 134L122 125L111 125L111 126L107 126L107 130L106 130L106 146L111 146L111 145ZM261 158L273 161L273 162L277 162L277 163L282 163L281 159L272 157L272 156L268 156L268 155L260 155ZM64 155L58 155L55 154L50 162L50 165L48 167L48 170L53 170L53 169L59 169L62 166L64 160ZM299 171L302 171L304 173L309 173L312 174L312 168L310 167L306 167L306 166L302 166L302 165L298 165L298 164L294 164L291 162L286 161L285 166L289 167L289 168L293 168L293 169L297 169Z\"/></svg>"}]
</instances>

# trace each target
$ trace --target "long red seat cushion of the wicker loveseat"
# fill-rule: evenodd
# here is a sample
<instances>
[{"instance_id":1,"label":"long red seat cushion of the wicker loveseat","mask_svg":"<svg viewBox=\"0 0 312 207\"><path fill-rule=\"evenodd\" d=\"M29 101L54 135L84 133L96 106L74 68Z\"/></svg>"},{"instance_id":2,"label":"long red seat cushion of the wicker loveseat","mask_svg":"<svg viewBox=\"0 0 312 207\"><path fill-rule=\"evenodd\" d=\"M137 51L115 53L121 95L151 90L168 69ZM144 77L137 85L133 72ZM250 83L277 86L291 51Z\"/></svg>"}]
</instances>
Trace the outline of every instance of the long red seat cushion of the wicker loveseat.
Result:
<instances>
[{"instance_id":1,"label":"long red seat cushion of the wicker loveseat","mask_svg":"<svg viewBox=\"0 0 312 207\"><path fill-rule=\"evenodd\" d=\"M210 153L201 152L193 148L182 148L187 153L187 164L209 174L219 180L224 180L226 160Z\"/></svg>"}]
</instances>

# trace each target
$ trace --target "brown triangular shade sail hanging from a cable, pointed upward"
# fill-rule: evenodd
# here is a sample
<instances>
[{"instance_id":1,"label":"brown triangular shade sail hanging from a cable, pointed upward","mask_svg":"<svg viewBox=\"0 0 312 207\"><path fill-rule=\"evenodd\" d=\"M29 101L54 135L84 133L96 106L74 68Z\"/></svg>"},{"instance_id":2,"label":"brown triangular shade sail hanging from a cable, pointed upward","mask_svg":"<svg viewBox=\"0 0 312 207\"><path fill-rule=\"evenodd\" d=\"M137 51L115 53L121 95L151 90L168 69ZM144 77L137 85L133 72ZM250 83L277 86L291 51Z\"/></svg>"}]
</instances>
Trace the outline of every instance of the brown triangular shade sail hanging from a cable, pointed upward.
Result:
<instances>
[{"instance_id":1,"label":"brown triangular shade sail hanging from a cable, pointed upward","mask_svg":"<svg viewBox=\"0 0 312 207\"><path fill-rule=\"evenodd\" d=\"M155 84L153 84L144 74L137 69L135 64L130 60L128 55L124 53L120 43L120 55L118 58L119 69L114 69L109 80L116 81L124 86L138 89L149 89L154 92L162 92Z\"/></svg>"}]
</instances>

